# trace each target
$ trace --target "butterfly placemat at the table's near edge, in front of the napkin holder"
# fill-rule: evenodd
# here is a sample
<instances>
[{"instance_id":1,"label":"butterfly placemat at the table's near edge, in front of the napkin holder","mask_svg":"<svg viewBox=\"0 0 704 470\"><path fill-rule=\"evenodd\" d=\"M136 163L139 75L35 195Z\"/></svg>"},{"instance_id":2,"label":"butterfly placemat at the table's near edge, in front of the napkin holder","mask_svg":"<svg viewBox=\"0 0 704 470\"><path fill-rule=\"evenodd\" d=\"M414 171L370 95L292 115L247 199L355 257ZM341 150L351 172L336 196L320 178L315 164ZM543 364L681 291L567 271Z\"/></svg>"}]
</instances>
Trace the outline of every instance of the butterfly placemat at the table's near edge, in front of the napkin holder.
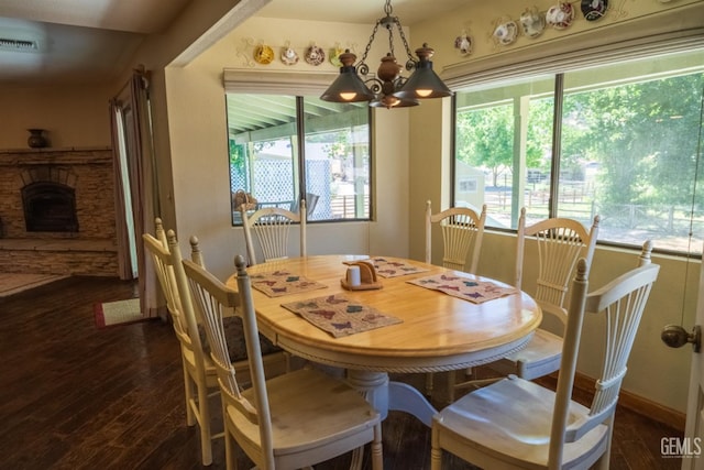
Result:
<instances>
[{"instance_id":1,"label":"butterfly placemat at the table's near edge, in front of the napkin holder","mask_svg":"<svg viewBox=\"0 0 704 470\"><path fill-rule=\"evenodd\" d=\"M403 323L400 318L382 314L341 294L282 304L282 307L300 315L336 338Z\"/></svg>"}]
</instances>

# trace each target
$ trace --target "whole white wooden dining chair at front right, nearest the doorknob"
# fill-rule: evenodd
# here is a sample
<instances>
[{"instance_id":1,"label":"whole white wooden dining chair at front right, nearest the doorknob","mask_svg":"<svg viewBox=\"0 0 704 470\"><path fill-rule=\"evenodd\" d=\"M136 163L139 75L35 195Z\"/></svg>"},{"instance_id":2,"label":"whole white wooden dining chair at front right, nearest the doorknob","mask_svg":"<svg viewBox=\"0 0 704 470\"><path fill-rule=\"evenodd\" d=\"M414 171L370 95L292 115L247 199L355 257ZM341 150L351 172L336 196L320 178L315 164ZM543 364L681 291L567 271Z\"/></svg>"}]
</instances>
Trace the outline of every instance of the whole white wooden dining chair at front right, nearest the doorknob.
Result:
<instances>
[{"instance_id":1,"label":"whole white wooden dining chair at front right, nearest the doorknob","mask_svg":"<svg viewBox=\"0 0 704 470\"><path fill-rule=\"evenodd\" d=\"M581 259L557 391L510 375L458 400L433 417L430 468L440 470L446 450L485 469L607 469L618 392L659 270L644 264L587 296ZM603 367L590 407L571 400L585 310L605 320Z\"/></svg>"}]
</instances>

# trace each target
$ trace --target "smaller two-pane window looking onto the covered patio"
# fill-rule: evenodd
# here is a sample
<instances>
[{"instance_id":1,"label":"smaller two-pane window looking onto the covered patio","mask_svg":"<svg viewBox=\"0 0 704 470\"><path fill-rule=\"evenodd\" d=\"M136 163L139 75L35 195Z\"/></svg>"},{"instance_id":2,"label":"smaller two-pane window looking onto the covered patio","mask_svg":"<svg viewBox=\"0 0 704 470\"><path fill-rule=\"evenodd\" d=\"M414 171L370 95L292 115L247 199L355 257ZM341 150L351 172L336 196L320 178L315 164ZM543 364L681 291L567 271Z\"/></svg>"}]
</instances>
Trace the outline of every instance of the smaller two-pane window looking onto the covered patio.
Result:
<instances>
[{"instance_id":1,"label":"smaller two-pane window looking onto the covered patio","mask_svg":"<svg viewBox=\"0 0 704 470\"><path fill-rule=\"evenodd\" d=\"M227 106L232 194L290 210L305 196L309 221L370 218L366 103L229 92Z\"/></svg>"}]
</instances>

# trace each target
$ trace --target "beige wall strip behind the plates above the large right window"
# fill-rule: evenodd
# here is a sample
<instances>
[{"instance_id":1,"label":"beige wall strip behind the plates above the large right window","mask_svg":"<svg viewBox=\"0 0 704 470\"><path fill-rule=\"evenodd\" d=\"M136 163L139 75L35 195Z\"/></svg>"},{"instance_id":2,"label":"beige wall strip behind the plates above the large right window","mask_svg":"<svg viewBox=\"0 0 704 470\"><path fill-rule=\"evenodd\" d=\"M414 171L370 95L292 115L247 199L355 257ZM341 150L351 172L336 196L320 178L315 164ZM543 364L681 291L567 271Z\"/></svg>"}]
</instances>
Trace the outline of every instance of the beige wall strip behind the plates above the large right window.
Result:
<instances>
[{"instance_id":1,"label":"beige wall strip behind the plates above the large right window","mask_svg":"<svg viewBox=\"0 0 704 470\"><path fill-rule=\"evenodd\" d=\"M413 28L414 46L428 42L435 50L435 68L444 75L466 66L464 73L473 74L497 66L502 62L509 68L531 58L542 58L558 53L591 46L610 44L635 37L704 28L702 0L670 2L610 1L606 15L597 21L586 21L579 2L570 2L576 9L575 20L565 30L546 28L541 35L531 39L519 34L510 45L499 45L492 33L499 22L516 21L527 7L547 11L556 0L536 0L519 3L513 0L468 2L468 7L429 19ZM471 6L470 6L471 4ZM473 40L471 54L462 55L454 48L454 39L466 30Z\"/></svg>"}]
</instances>

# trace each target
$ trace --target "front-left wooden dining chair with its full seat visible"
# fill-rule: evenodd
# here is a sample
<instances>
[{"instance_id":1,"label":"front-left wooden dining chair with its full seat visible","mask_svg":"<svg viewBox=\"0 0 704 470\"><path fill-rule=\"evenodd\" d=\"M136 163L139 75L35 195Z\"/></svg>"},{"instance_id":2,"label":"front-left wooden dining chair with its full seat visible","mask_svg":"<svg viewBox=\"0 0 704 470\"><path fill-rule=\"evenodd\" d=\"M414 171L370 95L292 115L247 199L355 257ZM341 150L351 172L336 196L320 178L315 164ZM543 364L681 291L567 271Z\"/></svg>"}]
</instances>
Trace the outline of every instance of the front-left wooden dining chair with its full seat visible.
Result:
<instances>
[{"instance_id":1,"label":"front-left wooden dining chair with its full seat visible","mask_svg":"<svg viewBox=\"0 0 704 470\"><path fill-rule=\"evenodd\" d=\"M299 369L265 380L256 341L257 326L244 259L235 258L238 291L198 264L184 261L195 304L205 319L218 370L226 426L227 468L235 466L237 442L258 469L312 466L372 442L372 468L382 470L378 413L344 382L316 369ZM227 357L222 314L243 316L251 389L241 391Z\"/></svg>"}]
</instances>

